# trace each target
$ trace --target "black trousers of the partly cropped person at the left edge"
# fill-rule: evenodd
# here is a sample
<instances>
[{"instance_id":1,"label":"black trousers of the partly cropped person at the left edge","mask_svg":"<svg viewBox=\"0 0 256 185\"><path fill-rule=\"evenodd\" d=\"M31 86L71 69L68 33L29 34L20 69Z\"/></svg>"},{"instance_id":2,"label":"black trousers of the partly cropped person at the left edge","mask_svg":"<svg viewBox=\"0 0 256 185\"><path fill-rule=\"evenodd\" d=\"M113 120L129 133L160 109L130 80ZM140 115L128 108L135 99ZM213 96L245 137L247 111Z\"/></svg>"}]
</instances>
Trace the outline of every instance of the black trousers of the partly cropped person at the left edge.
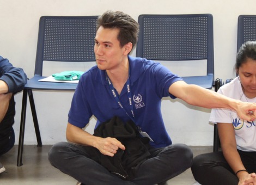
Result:
<instances>
[{"instance_id":1,"label":"black trousers of the partly cropped person at the left edge","mask_svg":"<svg viewBox=\"0 0 256 185\"><path fill-rule=\"evenodd\" d=\"M0 122L0 155L8 152L15 141L13 124L15 115L14 95L11 97L7 113L2 122Z\"/></svg>"}]
</instances>

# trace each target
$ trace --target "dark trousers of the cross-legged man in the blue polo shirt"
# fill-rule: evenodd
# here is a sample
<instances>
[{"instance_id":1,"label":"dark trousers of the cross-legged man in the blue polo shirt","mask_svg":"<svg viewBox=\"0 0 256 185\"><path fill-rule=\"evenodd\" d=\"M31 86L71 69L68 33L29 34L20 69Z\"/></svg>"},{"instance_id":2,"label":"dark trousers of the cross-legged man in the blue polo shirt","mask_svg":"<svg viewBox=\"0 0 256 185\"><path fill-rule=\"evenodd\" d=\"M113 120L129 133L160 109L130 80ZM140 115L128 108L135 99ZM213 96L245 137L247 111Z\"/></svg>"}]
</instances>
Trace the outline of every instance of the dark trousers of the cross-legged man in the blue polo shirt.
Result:
<instances>
[{"instance_id":1,"label":"dark trousers of the cross-legged man in the blue polo shirt","mask_svg":"<svg viewBox=\"0 0 256 185\"><path fill-rule=\"evenodd\" d=\"M48 153L51 164L83 184L157 184L169 180L191 167L193 153L184 144L173 144L161 149L151 149L151 158L136 170L132 181L111 174L99 163L90 159L87 146L57 143Z\"/></svg>"}]
</instances>

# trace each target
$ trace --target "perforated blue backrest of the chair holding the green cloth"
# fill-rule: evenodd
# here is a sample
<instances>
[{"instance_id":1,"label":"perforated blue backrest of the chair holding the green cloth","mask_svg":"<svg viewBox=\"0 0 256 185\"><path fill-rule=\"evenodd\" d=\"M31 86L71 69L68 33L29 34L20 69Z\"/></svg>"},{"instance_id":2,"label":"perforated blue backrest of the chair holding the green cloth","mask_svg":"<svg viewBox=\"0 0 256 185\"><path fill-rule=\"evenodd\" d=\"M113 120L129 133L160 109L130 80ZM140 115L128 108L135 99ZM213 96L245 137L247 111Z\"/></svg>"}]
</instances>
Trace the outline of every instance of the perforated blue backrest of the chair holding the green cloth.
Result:
<instances>
[{"instance_id":1,"label":"perforated blue backrest of the chair holding the green cloth","mask_svg":"<svg viewBox=\"0 0 256 185\"><path fill-rule=\"evenodd\" d=\"M39 22L35 75L48 61L95 61L97 16L42 16Z\"/></svg>"}]
</instances>

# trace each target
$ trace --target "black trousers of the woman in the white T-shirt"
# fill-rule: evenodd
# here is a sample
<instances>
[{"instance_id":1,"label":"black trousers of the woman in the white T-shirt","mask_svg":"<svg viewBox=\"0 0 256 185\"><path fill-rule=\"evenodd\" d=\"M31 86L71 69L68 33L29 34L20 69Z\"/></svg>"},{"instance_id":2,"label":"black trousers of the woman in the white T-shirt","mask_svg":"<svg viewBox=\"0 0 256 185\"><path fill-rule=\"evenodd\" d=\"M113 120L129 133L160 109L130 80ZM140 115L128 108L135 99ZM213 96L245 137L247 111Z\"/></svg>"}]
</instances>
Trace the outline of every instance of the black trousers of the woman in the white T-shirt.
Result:
<instances>
[{"instance_id":1,"label":"black trousers of the woman in the white T-shirt","mask_svg":"<svg viewBox=\"0 0 256 185\"><path fill-rule=\"evenodd\" d=\"M237 151L246 170L250 174L256 172L256 152ZM202 185L237 185L239 182L221 151L194 157L191 170L196 181Z\"/></svg>"}]
</instances>

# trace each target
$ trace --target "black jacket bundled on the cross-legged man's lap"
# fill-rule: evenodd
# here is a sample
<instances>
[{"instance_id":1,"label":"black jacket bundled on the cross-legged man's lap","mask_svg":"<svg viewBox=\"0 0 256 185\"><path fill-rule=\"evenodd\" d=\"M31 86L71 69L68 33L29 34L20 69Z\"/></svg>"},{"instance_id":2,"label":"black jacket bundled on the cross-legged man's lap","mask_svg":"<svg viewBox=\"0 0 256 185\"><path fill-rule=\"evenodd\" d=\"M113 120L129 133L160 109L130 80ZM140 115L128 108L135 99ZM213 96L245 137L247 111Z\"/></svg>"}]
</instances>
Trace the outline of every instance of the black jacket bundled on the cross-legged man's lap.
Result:
<instances>
[{"instance_id":1,"label":"black jacket bundled on the cross-legged man's lap","mask_svg":"<svg viewBox=\"0 0 256 185\"><path fill-rule=\"evenodd\" d=\"M124 123L115 116L100 124L93 135L102 138L116 138L125 146L125 150L118 149L113 157L103 155L95 147L90 147L94 161L125 180L134 178L136 167L150 157L149 138L142 138L137 126L132 121Z\"/></svg>"}]
</instances>

